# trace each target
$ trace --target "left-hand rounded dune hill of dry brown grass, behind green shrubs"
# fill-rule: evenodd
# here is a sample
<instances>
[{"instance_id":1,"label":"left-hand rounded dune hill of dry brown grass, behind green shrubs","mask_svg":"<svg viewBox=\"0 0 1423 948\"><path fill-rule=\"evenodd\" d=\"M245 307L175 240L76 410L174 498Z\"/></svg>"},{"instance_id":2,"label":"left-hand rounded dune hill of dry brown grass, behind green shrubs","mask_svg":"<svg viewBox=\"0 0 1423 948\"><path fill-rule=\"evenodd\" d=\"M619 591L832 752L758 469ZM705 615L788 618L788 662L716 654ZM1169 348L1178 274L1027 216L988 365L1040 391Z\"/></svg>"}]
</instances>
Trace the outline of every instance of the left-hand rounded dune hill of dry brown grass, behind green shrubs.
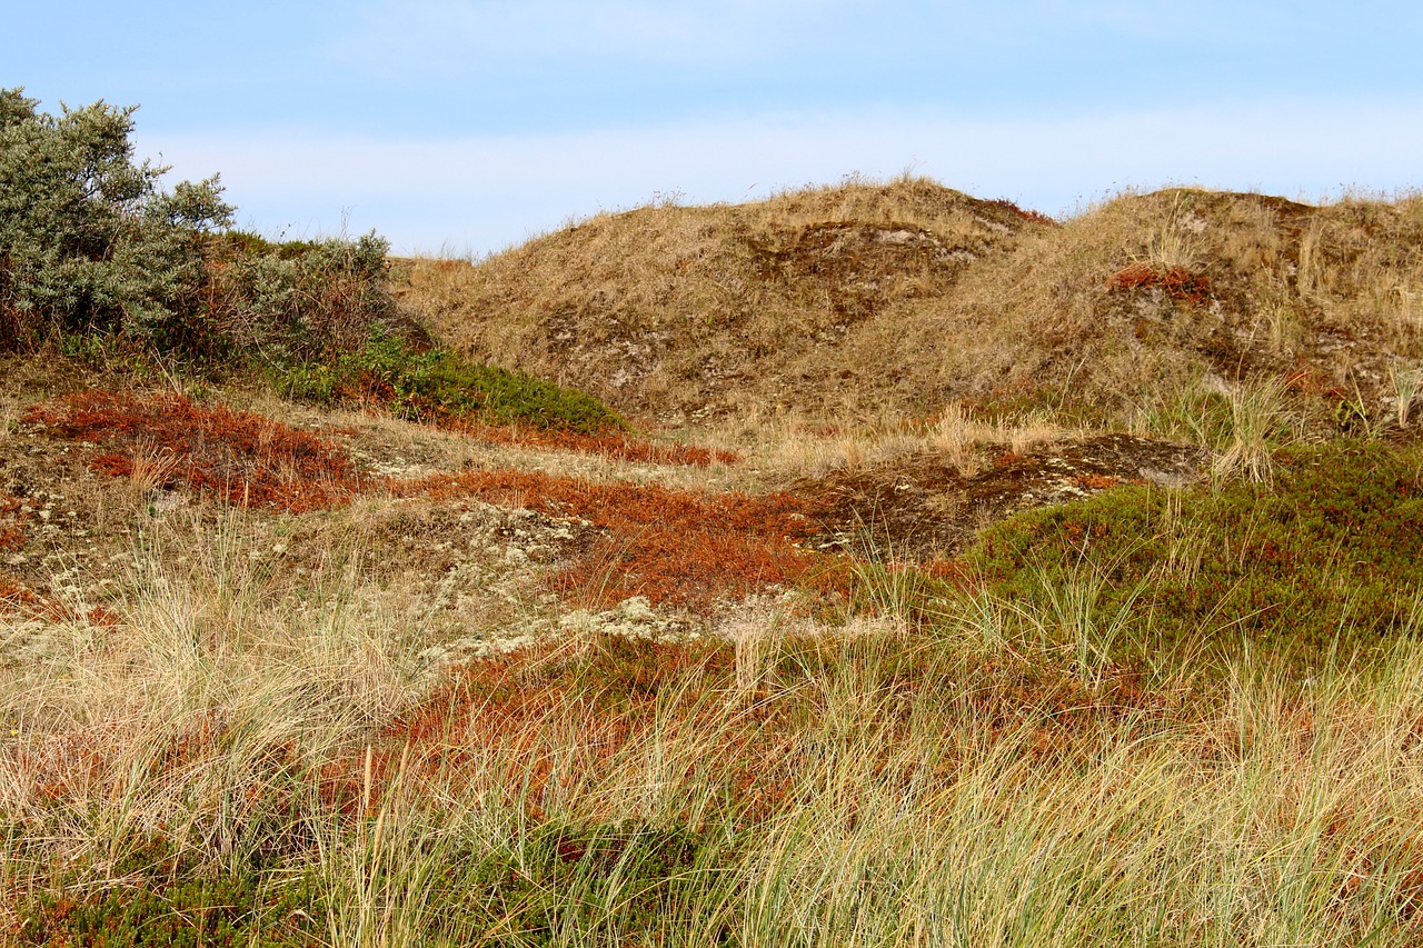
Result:
<instances>
[{"instance_id":1,"label":"left-hand rounded dune hill of dry brown grass, behind green shrubs","mask_svg":"<svg viewBox=\"0 0 1423 948\"><path fill-rule=\"evenodd\" d=\"M1025 233L1006 202L851 181L746 205L603 214L478 266L417 262L406 300L448 342L640 414L874 406L932 391L925 307Z\"/></svg>"}]
</instances>

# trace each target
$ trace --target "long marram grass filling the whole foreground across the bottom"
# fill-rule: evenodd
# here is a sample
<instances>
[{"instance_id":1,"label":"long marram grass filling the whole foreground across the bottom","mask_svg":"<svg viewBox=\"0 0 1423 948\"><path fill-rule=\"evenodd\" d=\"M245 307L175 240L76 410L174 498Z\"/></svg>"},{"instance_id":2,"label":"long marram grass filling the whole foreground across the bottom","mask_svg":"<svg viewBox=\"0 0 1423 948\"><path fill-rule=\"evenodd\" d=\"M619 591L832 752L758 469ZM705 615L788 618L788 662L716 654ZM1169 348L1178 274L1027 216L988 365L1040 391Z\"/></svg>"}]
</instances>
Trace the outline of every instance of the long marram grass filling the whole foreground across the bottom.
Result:
<instances>
[{"instance_id":1,"label":"long marram grass filling the whole foreground across the bottom","mask_svg":"<svg viewBox=\"0 0 1423 948\"><path fill-rule=\"evenodd\" d=\"M1423 937L1414 645L1143 683L966 598L740 678L571 636L451 679L359 549L293 578L243 517L155 528L118 625L0 626L47 642L0 672L14 944Z\"/></svg>"}]
</instances>

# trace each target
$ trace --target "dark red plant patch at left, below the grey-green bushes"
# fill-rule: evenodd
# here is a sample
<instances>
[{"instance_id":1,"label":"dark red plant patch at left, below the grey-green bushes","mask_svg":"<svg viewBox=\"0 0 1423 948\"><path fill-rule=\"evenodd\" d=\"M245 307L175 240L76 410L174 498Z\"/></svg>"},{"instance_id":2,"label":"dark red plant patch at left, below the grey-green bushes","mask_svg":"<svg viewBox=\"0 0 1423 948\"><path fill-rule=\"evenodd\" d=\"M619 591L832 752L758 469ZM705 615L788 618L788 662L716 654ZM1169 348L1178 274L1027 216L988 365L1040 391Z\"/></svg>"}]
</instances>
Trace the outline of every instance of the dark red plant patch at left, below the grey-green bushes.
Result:
<instances>
[{"instance_id":1,"label":"dark red plant patch at left, below the grey-green bushes","mask_svg":"<svg viewBox=\"0 0 1423 948\"><path fill-rule=\"evenodd\" d=\"M323 510L363 487L350 457L324 438L179 394L83 391L31 409L26 421L97 443L97 471L185 484L245 507Z\"/></svg>"}]
</instances>

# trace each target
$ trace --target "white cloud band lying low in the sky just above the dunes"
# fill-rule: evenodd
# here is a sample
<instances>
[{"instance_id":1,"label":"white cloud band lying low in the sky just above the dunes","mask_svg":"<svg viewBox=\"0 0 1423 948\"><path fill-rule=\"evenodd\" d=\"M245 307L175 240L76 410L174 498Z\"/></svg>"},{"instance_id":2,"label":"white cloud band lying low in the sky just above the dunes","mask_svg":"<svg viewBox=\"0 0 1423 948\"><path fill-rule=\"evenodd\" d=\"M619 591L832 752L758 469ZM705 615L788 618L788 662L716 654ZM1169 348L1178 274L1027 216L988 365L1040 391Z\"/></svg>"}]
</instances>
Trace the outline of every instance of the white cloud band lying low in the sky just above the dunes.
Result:
<instances>
[{"instance_id":1,"label":"white cloud band lying low in the sky just above the dunes","mask_svg":"<svg viewBox=\"0 0 1423 948\"><path fill-rule=\"evenodd\" d=\"M1423 154L1423 104L1276 101L1003 121L820 114L396 141L272 131L164 135L154 145L176 177L222 171L229 199L260 231L334 232L346 209L353 229L374 228L400 251L485 252L659 192L741 201L911 165L949 186L1052 214L1163 184L1306 199L1342 186L1393 191L1423 185L1414 161Z\"/></svg>"}]
</instances>

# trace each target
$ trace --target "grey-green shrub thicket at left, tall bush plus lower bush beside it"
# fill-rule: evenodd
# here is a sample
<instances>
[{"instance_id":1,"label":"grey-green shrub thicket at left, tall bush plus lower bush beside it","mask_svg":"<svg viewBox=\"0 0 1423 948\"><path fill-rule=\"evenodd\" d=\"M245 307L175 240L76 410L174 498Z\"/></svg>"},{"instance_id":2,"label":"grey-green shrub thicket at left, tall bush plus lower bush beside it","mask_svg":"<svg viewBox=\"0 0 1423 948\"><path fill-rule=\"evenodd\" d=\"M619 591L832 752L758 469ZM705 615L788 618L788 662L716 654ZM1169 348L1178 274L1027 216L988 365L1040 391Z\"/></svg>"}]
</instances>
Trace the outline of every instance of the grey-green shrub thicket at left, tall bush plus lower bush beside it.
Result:
<instances>
[{"instance_id":1,"label":"grey-green shrub thicket at left, tall bush plus lower bush beside it","mask_svg":"<svg viewBox=\"0 0 1423 948\"><path fill-rule=\"evenodd\" d=\"M0 90L0 349L80 336L300 362L398 326L384 239L226 231L216 175L168 192L166 168L134 161L134 111L100 101L53 117Z\"/></svg>"}]
</instances>

